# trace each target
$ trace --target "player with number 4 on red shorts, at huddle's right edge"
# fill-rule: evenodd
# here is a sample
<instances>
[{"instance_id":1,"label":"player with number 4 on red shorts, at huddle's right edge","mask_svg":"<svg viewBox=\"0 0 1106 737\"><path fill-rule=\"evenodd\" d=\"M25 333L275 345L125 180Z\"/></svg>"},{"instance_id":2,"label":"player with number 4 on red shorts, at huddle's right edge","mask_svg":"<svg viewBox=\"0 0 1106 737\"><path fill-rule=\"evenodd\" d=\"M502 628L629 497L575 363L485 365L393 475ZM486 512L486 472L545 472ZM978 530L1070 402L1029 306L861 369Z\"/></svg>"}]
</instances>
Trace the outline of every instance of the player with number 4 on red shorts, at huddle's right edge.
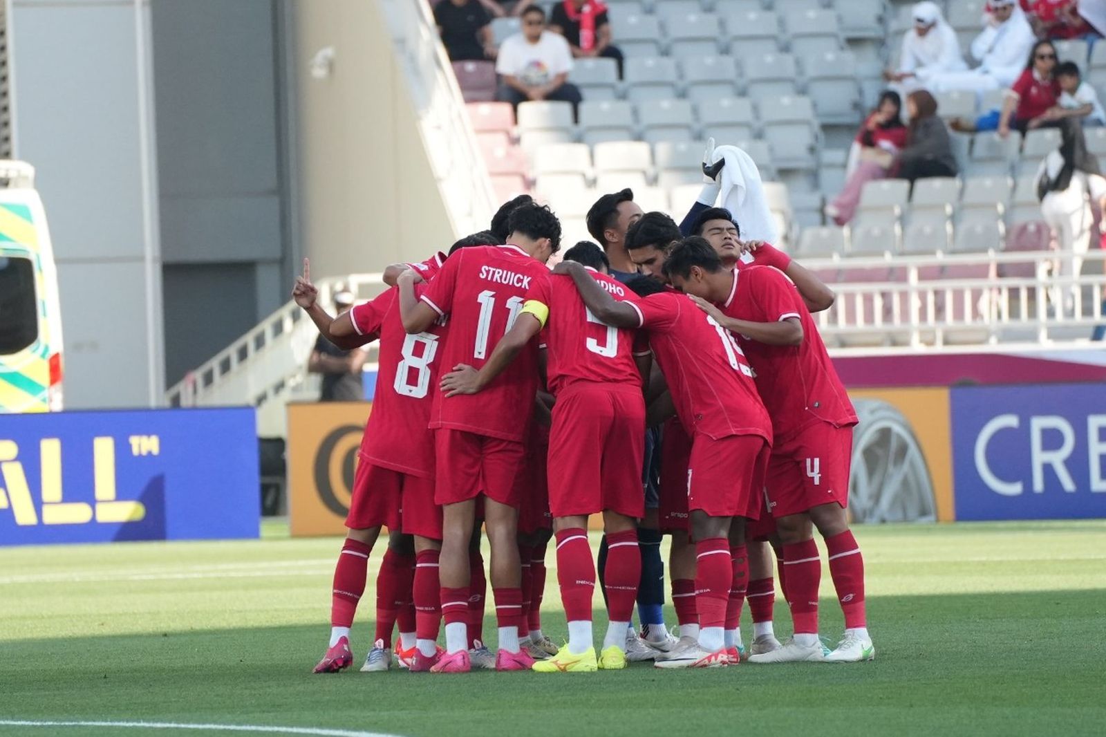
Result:
<instances>
[{"instance_id":1,"label":"player with number 4 on red shorts, at huddle's right edge","mask_svg":"<svg viewBox=\"0 0 1106 737\"><path fill-rule=\"evenodd\" d=\"M714 322L740 336L757 386L772 415L775 446L768 495L783 540L793 640L751 663L872 660L864 603L864 559L848 529L848 475L856 413L830 361L810 310L776 269L729 270L701 238L668 256L672 284L692 295ZM811 526L825 540L845 636L832 653L818 641L822 575Z\"/></svg>"}]
</instances>

